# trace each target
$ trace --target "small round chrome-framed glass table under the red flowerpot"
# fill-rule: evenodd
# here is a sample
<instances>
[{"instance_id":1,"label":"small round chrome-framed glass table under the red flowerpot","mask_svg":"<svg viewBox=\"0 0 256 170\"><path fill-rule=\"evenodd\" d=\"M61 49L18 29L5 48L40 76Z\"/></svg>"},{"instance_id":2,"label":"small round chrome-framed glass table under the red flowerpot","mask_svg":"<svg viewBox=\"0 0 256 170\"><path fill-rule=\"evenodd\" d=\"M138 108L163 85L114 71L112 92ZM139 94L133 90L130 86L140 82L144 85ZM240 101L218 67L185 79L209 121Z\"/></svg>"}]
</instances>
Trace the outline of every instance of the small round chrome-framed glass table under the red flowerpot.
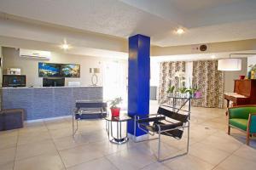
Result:
<instances>
[{"instance_id":1,"label":"small round chrome-framed glass table under the red flowerpot","mask_svg":"<svg viewBox=\"0 0 256 170\"><path fill-rule=\"evenodd\" d=\"M131 120L131 117L127 114L120 113L120 116L107 116L106 129L108 133L108 139L113 144L125 144L128 142L127 136L127 122ZM125 124L125 133L122 132L122 126ZM124 130L124 127L123 127Z\"/></svg>"}]
</instances>

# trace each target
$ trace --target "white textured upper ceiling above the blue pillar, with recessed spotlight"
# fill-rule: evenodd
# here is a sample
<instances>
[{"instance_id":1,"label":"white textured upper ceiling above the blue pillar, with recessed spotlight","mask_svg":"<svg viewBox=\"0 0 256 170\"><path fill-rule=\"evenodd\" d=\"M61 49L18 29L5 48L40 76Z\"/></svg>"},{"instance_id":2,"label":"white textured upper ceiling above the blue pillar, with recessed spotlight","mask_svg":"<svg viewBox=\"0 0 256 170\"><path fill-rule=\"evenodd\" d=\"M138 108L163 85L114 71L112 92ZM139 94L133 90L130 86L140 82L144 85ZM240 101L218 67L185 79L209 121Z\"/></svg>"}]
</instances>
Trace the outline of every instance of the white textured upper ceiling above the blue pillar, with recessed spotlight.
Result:
<instances>
[{"instance_id":1,"label":"white textured upper ceiling above the blue pillar, with recessed spotlight","mask_svg":"<svg viewBox=\"0 0 256 170\"><path fill-rule=\"evenodd\" d=\"M163 47L256 38L255 8L255 0L0 0L6 14L123 38L141 33Z\"/></svg>"}]
</instances>

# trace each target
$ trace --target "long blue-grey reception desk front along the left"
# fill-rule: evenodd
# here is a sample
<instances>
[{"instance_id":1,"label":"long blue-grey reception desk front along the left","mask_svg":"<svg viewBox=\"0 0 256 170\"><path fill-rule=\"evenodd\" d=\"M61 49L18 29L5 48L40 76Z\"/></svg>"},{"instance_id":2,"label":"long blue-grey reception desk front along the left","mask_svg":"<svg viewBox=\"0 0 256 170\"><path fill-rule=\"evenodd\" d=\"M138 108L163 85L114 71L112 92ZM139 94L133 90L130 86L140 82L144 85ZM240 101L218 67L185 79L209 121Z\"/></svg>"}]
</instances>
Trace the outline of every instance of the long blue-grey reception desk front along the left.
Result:
<instances>
[{"instance_id":1,"label":"long blue-grey reception desk front along the left","mask_svg":"<svg viewBox=\"0 0 256 170\"><path fill-rule=\"evenodd\" d=\"M1 88L2 109L22 108L26 120L72 115L76 100L102 99L102 87Z\"/></svg>"}]
</instances>

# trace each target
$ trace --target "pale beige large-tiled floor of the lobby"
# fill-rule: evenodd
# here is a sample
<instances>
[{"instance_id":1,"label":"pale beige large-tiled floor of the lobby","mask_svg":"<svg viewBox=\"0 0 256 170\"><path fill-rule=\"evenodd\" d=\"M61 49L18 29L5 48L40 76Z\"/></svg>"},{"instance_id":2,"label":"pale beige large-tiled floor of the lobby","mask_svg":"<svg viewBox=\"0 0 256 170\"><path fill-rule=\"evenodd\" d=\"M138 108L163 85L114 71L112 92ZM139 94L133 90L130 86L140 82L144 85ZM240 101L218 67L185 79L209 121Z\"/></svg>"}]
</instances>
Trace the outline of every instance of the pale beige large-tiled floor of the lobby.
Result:
<instances>
[{"instance_id":1,"label":"pale beige large-tiled floor of the lobby","mask_svg":"<svg viewBox=\"0 0 256 170\"><path fill-rule=\"evenodd\" d=\"M157 105L151 105L154 113ZM71 118L26 123L0 133L1 170L171 169L255 170L256 139L245 145L245 135L226 133L224 110L193 108L189 154L156 161L157 141L127 144L108 142L104 121L80 122L73 139ZM163 156L183 152L184 139L163 138Z\"/></svg>"}]
</instances>

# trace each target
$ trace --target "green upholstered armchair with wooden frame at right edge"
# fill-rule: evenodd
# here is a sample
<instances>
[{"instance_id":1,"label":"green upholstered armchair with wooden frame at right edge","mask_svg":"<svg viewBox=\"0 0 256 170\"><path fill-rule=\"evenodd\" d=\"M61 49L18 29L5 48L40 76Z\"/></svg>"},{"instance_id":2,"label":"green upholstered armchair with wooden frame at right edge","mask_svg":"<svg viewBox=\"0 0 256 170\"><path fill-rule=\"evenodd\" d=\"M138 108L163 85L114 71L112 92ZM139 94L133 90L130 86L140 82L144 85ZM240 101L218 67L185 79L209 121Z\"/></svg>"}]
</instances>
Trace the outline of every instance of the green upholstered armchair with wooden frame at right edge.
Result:
<instances>
[{"instance_id":1,"label":"green upholstered armchair with wooden frame at right edge","mask_svg":"<svg viewBox=\"0 0 256 170\"><path fill-rule=\"evenodd\" d=\"M229 128L241 130L247 133L247 145L250 142L250 136L256 134L256 105L239 105L228 109Z\"/></svg>"}]
</instances>

